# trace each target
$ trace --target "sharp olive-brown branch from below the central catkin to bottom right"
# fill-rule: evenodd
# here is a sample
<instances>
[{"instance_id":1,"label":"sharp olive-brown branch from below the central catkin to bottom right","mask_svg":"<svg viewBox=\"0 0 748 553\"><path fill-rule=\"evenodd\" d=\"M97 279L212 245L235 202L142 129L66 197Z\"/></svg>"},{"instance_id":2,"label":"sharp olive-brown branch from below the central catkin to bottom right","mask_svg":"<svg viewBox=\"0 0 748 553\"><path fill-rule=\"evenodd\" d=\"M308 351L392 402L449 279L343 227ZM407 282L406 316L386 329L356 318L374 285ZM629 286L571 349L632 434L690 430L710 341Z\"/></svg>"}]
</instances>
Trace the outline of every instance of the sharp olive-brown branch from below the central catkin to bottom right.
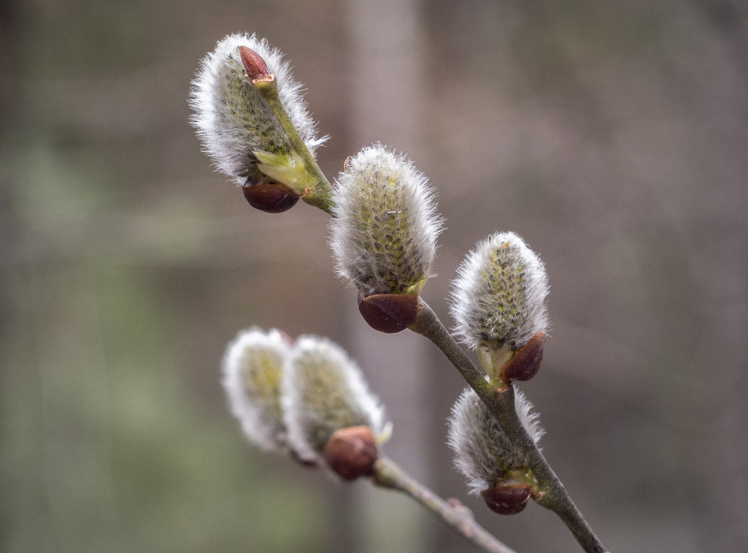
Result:
<instances>
[{"instance_id":1,"label":"sharp olive-brown branch from below the central catkin to bottom right","mask_svg":"<svg viewBox=\"0 0 748 553\"><path fill-rule=\"evenodd\" d=\"M595 536L574 501L571 501L571 496L568 495L556 473L519 420L515 410L514 388L511 385L494 388L491 383L488 383L482 372L473 365L423 299L420 299L417 319L410 328L434 342L447 359L455 365L468 385L475 390L509 439L522 448L527 455L528 465L539 482L536 502L554 511L560 517L585 552L605 553L606 549Z\"/></svg>"}]
</instances>

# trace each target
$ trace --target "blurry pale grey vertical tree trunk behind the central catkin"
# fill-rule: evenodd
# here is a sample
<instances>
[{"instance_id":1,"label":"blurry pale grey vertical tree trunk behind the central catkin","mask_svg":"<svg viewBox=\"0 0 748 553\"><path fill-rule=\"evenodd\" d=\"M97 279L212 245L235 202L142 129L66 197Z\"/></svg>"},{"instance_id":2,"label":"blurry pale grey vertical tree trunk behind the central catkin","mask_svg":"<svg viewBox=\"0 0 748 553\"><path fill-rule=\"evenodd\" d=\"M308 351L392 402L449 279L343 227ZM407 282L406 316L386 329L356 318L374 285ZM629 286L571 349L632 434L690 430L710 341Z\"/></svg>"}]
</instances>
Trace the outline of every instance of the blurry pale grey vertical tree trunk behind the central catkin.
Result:
<instances>
[{"instance_id":1,"label":"blurry pale grey vertical tree trunk behind the central catkin","mask_svg":"<svg viewBox=\"0 0 748 553\"><path fill-rule=\"evenodd\" d=\"M378 141L411 153L407 150L417 143L423 66L419 28L417 1L350 2L349 63L355 69L349 100L349 155ZM385 445L387 454L428 484L426 460L432 448L423 394L429 380L427 344L408 331L384 335L371 329L355 308L355 294L347 293L352 355L361 362L394 423L393 439ZM404 520L395 496L371 489L362 494L367 498L362 501L362 551L373 551L375 544L377 551L426 551L423 520L427 515L419 513L416 519ZM409 506L408 512L412 512Z\"/></svg>"}]
</instances>

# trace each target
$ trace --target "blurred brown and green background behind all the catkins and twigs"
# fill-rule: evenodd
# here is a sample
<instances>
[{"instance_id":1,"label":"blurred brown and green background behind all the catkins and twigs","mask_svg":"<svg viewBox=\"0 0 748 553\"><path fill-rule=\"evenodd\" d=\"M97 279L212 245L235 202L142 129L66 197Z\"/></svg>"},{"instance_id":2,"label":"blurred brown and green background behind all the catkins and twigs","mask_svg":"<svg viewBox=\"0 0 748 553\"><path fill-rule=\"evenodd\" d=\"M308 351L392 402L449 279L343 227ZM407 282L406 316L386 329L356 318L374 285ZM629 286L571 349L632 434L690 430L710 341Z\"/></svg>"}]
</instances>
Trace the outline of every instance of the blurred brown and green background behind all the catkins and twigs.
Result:
<instances>
[{"instance_id":1,"label":"blurred brown and green background behind all the catkins and twigs","mask_svg":"<svg viewBox=\"0 0 748 553\"><path fill-rule=\"evenodd\" d=\"M748 550L748 7L738 0L4 1L0 6L0 550L468 552L405 497L252 448L219 383L260 325L329 336L394 423L385 451L520 553L444 445L464 387L435 347L360 320L328 218L251 209L188 126L225 34L307 89L319 164L381 141L447 220L423 297L522 235L551 279L522 388L611 552Z\"/></svg>"}]
</instances>

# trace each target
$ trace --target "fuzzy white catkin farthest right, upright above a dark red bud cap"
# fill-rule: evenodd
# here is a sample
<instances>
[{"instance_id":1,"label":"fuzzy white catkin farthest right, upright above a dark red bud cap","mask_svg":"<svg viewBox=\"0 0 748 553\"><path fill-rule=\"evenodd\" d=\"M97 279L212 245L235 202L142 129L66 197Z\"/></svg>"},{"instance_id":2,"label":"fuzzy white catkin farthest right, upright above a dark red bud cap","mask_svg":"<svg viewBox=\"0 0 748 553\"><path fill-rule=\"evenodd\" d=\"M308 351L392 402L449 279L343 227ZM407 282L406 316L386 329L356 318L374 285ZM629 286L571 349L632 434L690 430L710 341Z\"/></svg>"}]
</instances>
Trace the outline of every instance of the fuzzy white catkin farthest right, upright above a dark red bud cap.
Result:
<instances>
[{"instance_id":1,"label":"fuzzy white catkin farthest right, upright above a dark red bud cap","mask_svg":"<svg viewBox=\"0 0 748 553\"><path fill-rule=\"evenodd\" d=\"M514 232L499 232L468 253L452 285L455 333L473 349L519 349L548 328L548 276Z\"/></svg>"}]
</instances>

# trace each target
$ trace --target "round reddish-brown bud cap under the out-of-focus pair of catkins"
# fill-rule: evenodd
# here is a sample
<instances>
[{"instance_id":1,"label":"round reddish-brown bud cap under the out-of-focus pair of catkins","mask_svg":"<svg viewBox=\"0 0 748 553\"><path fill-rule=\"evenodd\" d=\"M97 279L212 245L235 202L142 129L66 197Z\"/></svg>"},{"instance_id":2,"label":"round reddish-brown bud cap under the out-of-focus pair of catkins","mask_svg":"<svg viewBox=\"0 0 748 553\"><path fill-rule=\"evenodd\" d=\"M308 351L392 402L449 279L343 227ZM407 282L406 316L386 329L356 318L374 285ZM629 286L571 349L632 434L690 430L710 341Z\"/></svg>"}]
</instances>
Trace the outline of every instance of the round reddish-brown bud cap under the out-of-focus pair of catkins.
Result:
<instances>
[{"instance_id":1,"label":"round reddish-brown bud cap under the out-of-focus pair of catkins","mask_svg":"<svg viewBox=\"0 0 748 553\"><path fill-rule=\"evenodd\" d=\"M337 430L325 444L323 454L330 468L343 480L371 475L379 457L374 434L367 426Z\"/></svg>"}]
</instances>

